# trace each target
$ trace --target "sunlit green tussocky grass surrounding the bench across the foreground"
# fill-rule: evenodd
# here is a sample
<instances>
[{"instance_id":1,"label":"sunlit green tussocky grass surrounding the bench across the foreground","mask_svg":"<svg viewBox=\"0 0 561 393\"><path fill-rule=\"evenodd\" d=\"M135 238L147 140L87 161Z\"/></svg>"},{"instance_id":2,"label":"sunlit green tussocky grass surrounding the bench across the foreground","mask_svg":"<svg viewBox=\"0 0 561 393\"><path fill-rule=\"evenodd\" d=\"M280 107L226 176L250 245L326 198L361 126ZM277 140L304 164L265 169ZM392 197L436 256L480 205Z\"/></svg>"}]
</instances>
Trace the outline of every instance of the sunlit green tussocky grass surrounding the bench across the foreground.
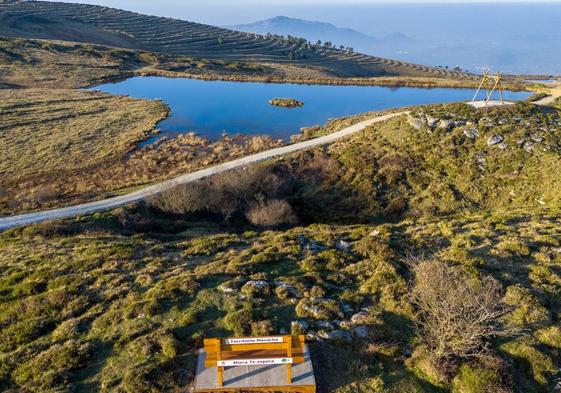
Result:
<instances>
[{"instance_id":1,"label":"sunlit green tussocky grass surrounding the bench across the foreground","mask_svg":"<svg viewBox=\"0 0 561 393\"><path fill-rule=\"evenodd\" d=\"M499 228L501 223L508 226ZM336 392L359 386L366 392L448 391L446 384L419 371L424 370L421 358L402 355L415 342L411 305L404 296L409 280L404 260L409 253L430 253L474 268L455 256L454 244L466 238L472 239L466 251L481 261L475 269L503 283L506 296L520 307L513 318L525 321L525 336L496 344L504 361L514 361L512 370L501 373L510 375L513 386L523 384L525 391L535 392L545 392L556 375L561 305L551 299L561 291L561 254L555 251L561 246L558 214L311 225L246 236L219 231L191 237L181 234L187 222L174 225L179 225L176 234L123 232L112 215L105 215L1 234L2 386L30 391L113 391L132 389L130 384L136 384L135 391L176 389L189 382L189 367L179 370L191 361L203 336L275 334L290 331L296 318L314 324L315 318L275 291L240 298L219 290L228 280L253 278L288 282L305 297L319 293L330 299L329 313L335 312L332 305L345 301L377 315L369 322L375 338L337 349L341 357L334 366L347 353L350 359L340 366L348 372L326 372L324 353L334 349L314 344L320 386ZM372 235L374 231L380 235ZM551 240L543 241L546 237ZM327 250L317 256L303 251L302 238L321 242ZM341 239L351 242L348 252L336 250ZM494 249L506 239L532 244L530 252L516 259L498 257ZM551 257L536 262L542 255ZM318 259L319 269L305 267L310 258ZM537 264L548 273L535 277L532 267ZM517 288L526 295L509 295ZM539 317L537 307L544 310ZM453 386L474 392L490 381L508 386L497 379L496 366L470 367L456 371Z\"/></svg>"}]
</instances>

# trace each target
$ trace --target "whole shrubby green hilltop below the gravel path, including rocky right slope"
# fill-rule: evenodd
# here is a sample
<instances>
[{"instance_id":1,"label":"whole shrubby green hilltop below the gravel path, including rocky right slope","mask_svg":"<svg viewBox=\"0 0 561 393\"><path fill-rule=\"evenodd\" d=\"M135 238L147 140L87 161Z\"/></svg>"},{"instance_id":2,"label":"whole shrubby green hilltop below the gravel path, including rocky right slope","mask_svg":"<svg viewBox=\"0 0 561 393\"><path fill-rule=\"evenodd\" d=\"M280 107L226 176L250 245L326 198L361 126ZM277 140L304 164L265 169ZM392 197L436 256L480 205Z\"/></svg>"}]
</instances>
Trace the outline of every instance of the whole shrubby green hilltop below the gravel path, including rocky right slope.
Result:
<instances>
[{"instance_id":1,"label":"whole shrubby green hilltop below the gravel path, including rocky right slope","mask_svg":"<svg viewBox=\"0 0 561 393\"><path fill-rule=\"evenodd\" d=\"M551 391L560 166L557 109L424 106L146 203L6 231L0 389L179 391L203 337L292 331L321 392ZM513 333L435 359L418 258L474 296L492 278Z\"/></svg>"}]
</instances>

